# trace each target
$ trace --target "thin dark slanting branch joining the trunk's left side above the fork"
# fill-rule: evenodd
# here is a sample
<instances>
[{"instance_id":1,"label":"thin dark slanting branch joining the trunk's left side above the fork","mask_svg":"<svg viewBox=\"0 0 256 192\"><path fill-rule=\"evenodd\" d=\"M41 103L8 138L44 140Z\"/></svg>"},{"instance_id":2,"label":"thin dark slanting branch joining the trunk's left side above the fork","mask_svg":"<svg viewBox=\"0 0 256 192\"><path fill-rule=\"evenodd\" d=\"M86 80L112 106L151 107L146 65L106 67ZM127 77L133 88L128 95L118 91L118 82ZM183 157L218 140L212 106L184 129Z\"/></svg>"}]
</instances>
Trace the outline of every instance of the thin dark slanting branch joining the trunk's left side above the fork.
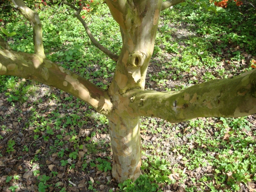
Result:
<instances>
[{"instance_id":1,"label":"thin dark slanting branch joining the trunk's left side above the fork","mask_svg":"<svg viewBox=\"0 0 256 192\"><path fill-rule=\"evenodd\" d=\"M96 41L96 39L93 37L89 27L87 26L87 24L85 23L85 21L83 20L83 18L79 15L81 9L76 8L75 6L71 5L70 3L68 3L65 0L62 0L63 3L65 3L67 6L70 6L71 8L75 9L75 16L76 18L82 23L82 25L84 26L84 29L88 35L88 37L90 38L90 41L93 43L93 45L95 47L97 47L99 50L101 50L102 52L104 52L106 55L108 55L112 60L117 61L118 59L118 55L115 55L113 52L111 52L109 49L107 49L106 47L102 46L98 41Z\"/></svg>"}]
</instances>

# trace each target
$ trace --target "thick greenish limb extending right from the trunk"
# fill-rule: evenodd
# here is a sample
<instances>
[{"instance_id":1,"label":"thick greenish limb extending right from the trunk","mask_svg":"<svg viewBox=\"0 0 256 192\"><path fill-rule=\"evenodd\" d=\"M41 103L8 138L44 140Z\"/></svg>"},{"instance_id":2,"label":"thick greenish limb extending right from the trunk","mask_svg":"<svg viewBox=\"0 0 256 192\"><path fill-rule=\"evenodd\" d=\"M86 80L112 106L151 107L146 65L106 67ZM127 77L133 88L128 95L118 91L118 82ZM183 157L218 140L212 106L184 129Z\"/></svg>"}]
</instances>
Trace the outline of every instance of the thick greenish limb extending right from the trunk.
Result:
<instances>
[{"instance_id":1,"label":"thick greenish limb extending right from the trunk","mask_svg":"<svg viewBox=\"0 0 256 192\"><path fill-rule=\"evenodd\" d=\"M256 113L256 70L233 79L196 84L179 92L140 91L131 101L129 107L137 115L169 122L209 116L247 116Z\"/></svg>"}]
</instances>

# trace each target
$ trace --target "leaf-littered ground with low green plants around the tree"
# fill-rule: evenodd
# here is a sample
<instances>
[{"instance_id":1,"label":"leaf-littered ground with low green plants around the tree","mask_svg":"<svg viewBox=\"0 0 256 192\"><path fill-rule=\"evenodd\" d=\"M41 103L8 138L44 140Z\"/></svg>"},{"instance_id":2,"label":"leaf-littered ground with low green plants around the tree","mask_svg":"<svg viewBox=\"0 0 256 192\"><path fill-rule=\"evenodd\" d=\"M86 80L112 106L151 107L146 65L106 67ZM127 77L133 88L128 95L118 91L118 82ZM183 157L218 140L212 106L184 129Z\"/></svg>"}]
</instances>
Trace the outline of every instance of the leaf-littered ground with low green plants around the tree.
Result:
<instances>
[{"instance_id":1,"label":"leaf-littered ground with low green plants around the tree","mask_svg":"<svg viewBox=\"0 0 256 192\"><path fill-rule=\"evenodd\" d=\"M107 89L115 62L90 44L70 12L63 4L38 11L47 58ZM254 12L250 4L239 8L231 5L218 17L191 5L164 10L145 89L178 91L251 70L255 59L255 44L250 43L255 41ZM118 25L107 6L95 5L92 12L85 10L81 15L90 20L97 40L119 53L122 35L116 35ZM51 20L45 19L48 17ZM223 20L227 27L221 27ZM3 24L9 33L17 32L8 39L12 49L34 51L29 23L17 15L15 22ZM143 175L135 182L125 180L117 186L111 177L113 156L104 115L70 94L53 90L48 96L48 87L36 81L2 76L0 83L4 190L255 188L255 116L201 118L177 124L154 117L141 119Z\"/></svg>"}]
</instances>

